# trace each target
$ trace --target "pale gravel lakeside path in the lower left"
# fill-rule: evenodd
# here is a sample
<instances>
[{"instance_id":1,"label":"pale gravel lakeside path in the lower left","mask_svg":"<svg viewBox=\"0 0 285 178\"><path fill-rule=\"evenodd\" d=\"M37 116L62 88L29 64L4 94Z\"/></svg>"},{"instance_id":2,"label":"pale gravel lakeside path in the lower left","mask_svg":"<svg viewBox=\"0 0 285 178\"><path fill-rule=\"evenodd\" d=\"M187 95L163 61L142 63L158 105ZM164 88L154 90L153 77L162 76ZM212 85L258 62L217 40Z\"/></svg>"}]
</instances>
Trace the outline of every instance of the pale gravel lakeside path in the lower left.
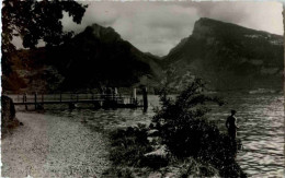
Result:
<instances>
[{"instance_id":1,"label":"pale gravel lakeside path in the lower left","mask_svg":"<svg viewBox=\"0 0 285 178\"><path fill-rule=\"evenodd\" d=\"M101 177L110 166L104 137L78 120L18 112L24 123L2 140L2 177Z\"/></svg>"}]
</instances>

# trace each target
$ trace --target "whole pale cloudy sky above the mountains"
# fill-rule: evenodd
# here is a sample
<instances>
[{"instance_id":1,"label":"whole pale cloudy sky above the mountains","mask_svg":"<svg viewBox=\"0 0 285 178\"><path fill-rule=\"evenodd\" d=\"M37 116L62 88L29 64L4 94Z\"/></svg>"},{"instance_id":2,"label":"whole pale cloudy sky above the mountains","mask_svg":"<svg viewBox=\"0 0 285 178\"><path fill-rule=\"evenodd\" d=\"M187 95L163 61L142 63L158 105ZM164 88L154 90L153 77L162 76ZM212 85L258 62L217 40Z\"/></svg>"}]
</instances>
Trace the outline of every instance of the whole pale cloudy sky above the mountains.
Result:
<instances>
[{"instance_id":1,"label":"whole pale cloudy sky above the mountains","mask_svg":"<svg viewBox=\"0 0 285 178\"><path fill-rule=\"evenodd\" d=\"M65 31L82 32L98 23L113 27L123 39L144 52L166 56L192 34L200 17L210 17L249 28L283 35L280 2L122 2L79 1L89 4L80 25L65 13Z\"/></svg>"}]
</instances>

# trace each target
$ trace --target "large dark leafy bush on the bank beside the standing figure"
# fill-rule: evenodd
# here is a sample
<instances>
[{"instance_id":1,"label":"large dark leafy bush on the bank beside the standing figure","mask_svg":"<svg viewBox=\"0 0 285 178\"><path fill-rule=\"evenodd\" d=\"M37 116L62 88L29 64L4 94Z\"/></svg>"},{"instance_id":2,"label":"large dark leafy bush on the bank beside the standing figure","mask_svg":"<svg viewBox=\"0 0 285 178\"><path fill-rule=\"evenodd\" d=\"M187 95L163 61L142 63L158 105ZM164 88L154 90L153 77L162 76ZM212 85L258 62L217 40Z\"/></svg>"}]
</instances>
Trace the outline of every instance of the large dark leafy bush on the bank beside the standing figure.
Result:
<instances>
[{"instance_id":1,"label":"large dark leafy bush on the bank beside the standing figure","mask_svg":"<svg viewBox=\"0 0 285 178\"><path fill-rule=\"evenodd\" d=\"M205 118L210 110L206 104L224 103L207 96L203 87L203 82L195 79L175 100L168 98L167 90L162 88L162 107L153 117L156 128L174 156L208 162L219 169L221 176L241 176L243 173L235 162L237 142Z\"/></svg>"}]
</instances>

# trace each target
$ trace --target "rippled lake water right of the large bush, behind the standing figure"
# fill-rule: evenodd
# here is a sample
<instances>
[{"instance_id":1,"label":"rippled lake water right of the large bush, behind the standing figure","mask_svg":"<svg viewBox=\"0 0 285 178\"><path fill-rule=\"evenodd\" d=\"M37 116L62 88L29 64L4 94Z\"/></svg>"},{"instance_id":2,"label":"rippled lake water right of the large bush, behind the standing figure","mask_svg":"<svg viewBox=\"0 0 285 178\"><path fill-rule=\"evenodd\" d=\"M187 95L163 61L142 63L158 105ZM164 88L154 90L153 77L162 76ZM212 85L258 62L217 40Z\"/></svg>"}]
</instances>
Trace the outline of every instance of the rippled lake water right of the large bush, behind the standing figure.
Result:
<instances>
[{"instance_id":1,"label":"rippled lake water right of the large bush, behind the standing figure","mask_svg":"<svg viewBox=\"0 0 285 178\"><path fill-rule=\"evenodd\" d=\"M228 105L216 107L210 116L225 130L229 110L238 111L238 138L243 144L237 157L240 166L253 177L284 177L284 97L254 94L225 98Z\"/></svg>"}]
</instances>

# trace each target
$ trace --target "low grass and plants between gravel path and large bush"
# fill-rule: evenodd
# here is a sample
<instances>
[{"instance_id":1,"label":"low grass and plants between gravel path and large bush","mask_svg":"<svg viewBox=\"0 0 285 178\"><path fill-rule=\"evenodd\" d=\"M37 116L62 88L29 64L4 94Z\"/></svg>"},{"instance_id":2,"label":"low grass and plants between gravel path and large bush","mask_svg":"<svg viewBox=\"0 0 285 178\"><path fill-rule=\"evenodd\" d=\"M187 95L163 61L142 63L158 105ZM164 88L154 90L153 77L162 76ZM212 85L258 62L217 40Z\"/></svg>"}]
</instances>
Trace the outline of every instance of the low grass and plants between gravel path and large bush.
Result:
<instances>
[{"instance_id":1,"label":"low grass and plants between gravel path and large bush","mask_svg":"<svg viewBox=\"0 0 285 178\"><path fill-rule=\"evenodd\" d=\"M145 156L156 149L148 141L146 126L117 129L110 133L110 159L112 167L105 170L104 177L148 177L149 175L174 175L175 177L208 177L218 175L210 164L189 157L179 159L169 153L168 156ZM157 143L156 143L157 144Z\"/></svg>"}]
</instances>

